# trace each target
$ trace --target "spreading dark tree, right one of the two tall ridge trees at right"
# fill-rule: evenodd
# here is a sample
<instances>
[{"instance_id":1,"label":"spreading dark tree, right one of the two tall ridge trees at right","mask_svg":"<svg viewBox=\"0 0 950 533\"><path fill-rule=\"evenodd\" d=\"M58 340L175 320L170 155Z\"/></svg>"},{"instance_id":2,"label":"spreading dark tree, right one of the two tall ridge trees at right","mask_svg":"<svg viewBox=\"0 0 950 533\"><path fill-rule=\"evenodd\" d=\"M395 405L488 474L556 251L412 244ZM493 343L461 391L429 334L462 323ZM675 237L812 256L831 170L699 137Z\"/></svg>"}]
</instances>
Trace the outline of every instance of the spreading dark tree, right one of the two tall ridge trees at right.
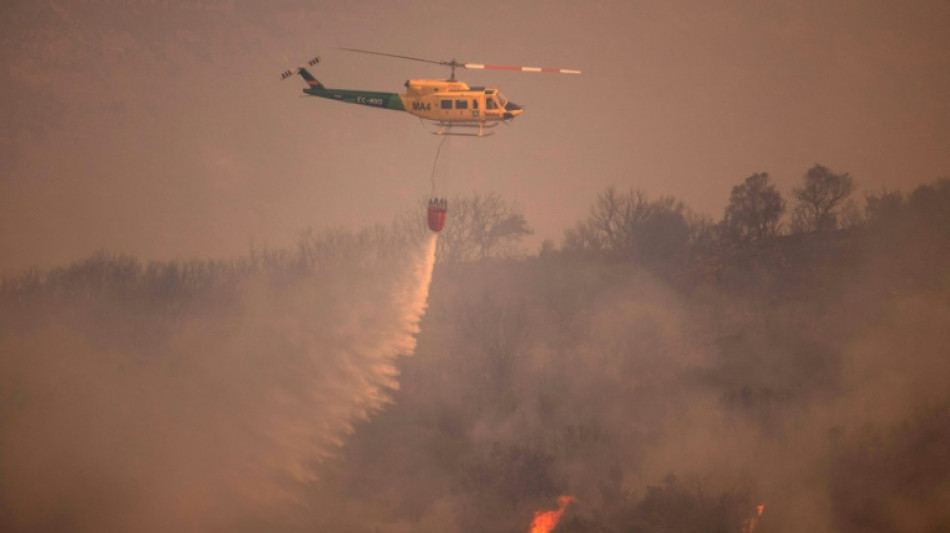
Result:
<instances>
[{"instance_id":1,"label":"spreading dark tree, right one of the two tall ridge trees at right","mask_svg":"<svg viewBox=\"0 0 950 533\"><path fill-rule=\"evenodd\" d=\"M804 186L792 190L798 200L792 211L792 231L813 233L838 229L839 218L854 191L854 180L847 172L835 174L816 164L805 173L804 181Z\"/></svg>"}]
</instances>

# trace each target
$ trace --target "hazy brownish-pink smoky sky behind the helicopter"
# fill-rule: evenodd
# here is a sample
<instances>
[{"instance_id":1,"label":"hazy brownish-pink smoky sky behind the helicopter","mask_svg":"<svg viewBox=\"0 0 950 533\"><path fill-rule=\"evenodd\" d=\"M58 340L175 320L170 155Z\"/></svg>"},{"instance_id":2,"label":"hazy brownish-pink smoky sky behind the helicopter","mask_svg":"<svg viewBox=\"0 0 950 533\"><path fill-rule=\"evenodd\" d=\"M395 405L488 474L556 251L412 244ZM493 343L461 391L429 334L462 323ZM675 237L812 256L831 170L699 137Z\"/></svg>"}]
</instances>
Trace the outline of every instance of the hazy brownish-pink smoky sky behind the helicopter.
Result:
<instances>
[{"instance_id":1,"label":"hazy brownish-pink smoky sky behind the helicopter","mask_svg":"<svg viewBox=\"0 0 950 533\"><path fill-rule=\"evenodd\" d=\"M865 190L950 172L945 2L5 2L0 7L0 271L97 249L221 257L308 228L391 220L428 192L438 139L408 114L300 97L398 92L435 65L526 106L455 143L448 194L519 202L559 237L607 185L718 218L766 171L818 162Z\"/></svg>"}]
</instances>

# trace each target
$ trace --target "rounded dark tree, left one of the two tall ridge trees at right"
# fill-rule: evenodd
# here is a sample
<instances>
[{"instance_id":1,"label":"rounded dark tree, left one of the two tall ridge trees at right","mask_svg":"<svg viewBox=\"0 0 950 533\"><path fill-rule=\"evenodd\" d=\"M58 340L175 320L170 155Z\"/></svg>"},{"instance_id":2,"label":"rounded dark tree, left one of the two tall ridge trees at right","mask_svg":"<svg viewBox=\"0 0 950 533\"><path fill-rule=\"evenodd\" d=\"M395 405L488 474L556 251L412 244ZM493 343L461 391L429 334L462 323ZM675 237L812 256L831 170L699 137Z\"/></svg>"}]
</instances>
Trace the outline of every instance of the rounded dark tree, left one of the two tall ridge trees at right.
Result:
<instances>
[{"instance_id":1,"label":"rounded dark tree, left one of the two tall ridge trees at right","mask_svg":"<svg viewBox=\"0 0 950 533\"><path fill-rule=\"evenodd\" d=\"M785 213L782 194L759 172L732 188L723 225L727 236L740 244L762 242L778 234Z\"/></svg>"}]
</instances>

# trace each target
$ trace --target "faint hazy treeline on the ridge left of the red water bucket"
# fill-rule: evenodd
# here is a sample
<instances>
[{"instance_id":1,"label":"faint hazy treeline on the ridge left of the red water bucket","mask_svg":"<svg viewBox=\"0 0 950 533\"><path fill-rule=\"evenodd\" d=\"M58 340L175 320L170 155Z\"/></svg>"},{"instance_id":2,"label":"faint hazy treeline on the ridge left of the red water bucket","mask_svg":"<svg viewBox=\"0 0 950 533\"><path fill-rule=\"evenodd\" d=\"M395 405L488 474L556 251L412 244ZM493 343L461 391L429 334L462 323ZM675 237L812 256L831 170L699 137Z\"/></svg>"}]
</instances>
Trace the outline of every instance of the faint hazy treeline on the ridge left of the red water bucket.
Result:
<instances>
[{"instance_id":1,"label":"faint hazy treeline on the ridge left of the red water bucket","mask_svg":"<svg viewBox=\"0 0 950 533\"><path fill-rule=\"evenodd\" d=\"M381 267L404 260L416 236L400 227L373 226L358 232L307 230L292 249L252 248L231 259L152 261L96 252L50 270L30 269L0 284L3 323L36 324L51 306L79 305L92 316L136 314L156 320L226 310L242 284L265 280L274 287L319 277L334 268ZM89 313L83 313L88 317Z\"/></svg>"}]
</instances>

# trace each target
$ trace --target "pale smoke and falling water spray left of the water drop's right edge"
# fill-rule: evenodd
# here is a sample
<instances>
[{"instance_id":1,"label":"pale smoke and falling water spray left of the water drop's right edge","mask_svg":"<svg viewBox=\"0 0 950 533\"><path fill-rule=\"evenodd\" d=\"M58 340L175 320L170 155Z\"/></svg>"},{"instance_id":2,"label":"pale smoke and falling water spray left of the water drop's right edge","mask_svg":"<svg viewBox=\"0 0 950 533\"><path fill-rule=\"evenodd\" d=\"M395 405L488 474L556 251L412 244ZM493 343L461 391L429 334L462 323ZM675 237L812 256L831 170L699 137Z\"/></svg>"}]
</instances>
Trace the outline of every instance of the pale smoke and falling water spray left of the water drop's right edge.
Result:
<instances>
[{"instance_id":1,"label":"pale smoke and falling water spray left of the water drop's right edge","mask_svg":"<svg viewBox=\"0 0 950 533\"><path fill-rule=\"evenodd\" d=\"M106 290L38 304L0 336L3 529L293 527L321 464L398 388L435 246L341 246L164 329Z\"/></svg>"}]
</instances>

